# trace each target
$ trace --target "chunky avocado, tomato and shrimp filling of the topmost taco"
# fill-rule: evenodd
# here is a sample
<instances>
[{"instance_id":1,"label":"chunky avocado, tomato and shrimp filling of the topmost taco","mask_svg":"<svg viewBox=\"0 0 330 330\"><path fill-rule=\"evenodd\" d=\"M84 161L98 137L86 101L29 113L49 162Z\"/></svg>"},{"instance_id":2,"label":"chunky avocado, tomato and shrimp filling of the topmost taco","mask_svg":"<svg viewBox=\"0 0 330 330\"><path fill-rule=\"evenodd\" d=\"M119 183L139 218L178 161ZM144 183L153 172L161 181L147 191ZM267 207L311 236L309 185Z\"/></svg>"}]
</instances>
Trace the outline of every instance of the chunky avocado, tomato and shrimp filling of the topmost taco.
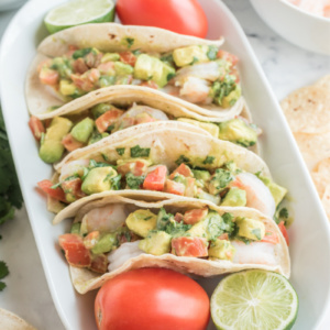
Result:
<instances>
[{"instance_id":1,"label":"chunky avocado, tomato and shrimp filling of the topmost taco","mask_svg":"<svg viewBox=\"0 0 330 330\"><path fill-rule=\"evenodd\" d=\"M65 101L111 85L139 85L193 103L232 107L241 96L238 57L216 46L193 45L166 54L139 50L102 53L70 46L38 67L42 84Z\"/></svg>"}]
</instances>

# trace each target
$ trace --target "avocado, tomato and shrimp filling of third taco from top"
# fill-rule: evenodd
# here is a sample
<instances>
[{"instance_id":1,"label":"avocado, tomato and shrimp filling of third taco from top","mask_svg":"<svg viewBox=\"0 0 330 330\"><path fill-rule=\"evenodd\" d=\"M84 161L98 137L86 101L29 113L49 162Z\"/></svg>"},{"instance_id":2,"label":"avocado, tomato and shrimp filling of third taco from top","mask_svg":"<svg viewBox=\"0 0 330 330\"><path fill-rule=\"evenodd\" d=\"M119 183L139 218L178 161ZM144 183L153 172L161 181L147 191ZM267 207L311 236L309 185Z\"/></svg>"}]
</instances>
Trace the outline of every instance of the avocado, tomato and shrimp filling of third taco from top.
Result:
<instances>
[{"instance_id":1,"label":"avocado, tomato and shrimp filling of third taco from top","mask_svg":"<svg viewBox=\"0 0 330 330\"><path fill-rule=\"evenodd\" d=\"M124 150L117 152L123 155ZM107 190L145 189L207 199L221 206L248 206L270 217L287 193L270 178L241 170L233 162L215 169L194 168L184 163L189 160L182 155L176 162L178 167L169 173L167 166L152 164L147 158L150 148L135 145L130 154L132 158L118 160L117 165L73 161L63 166L58 184L43 180L38 186L65 204ZM207 156L204 164L213 161L213 156Z\"/></svg>"}]
</instances>

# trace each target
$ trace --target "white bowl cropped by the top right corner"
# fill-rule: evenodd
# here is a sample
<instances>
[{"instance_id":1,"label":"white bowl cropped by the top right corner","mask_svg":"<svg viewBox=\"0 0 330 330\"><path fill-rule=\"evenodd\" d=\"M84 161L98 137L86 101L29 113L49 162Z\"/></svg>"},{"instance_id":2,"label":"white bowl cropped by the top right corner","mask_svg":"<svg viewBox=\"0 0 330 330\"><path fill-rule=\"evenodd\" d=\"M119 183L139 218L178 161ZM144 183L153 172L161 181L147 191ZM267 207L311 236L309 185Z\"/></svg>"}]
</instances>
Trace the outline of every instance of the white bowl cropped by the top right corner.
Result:
<instances>
[{"instance_id":1,"label":"white bowl cropped by the top right corner","mask_svg":"<svg viewBox=\"0 0 330 330\"><path fill-rule=\"evenodd\" d=\"M262 20L290 43L330 55L330 19L311 14L286 0L251 0Z\"/></svg>"}]
</instances>

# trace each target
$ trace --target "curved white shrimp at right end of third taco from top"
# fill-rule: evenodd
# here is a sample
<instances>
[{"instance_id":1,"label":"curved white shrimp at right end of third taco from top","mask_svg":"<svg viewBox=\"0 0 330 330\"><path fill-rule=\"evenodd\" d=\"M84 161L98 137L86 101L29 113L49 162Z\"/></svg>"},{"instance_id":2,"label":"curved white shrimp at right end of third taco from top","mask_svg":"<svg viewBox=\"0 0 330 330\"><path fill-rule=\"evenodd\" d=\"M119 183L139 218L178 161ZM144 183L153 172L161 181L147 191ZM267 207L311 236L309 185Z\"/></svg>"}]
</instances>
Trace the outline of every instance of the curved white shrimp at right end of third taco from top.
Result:
<instances>
[{"instance_id":1,"label":"curved white shrimp at right end of third taco from top","mask_svg":"<svg viewBox=\"0 0 330 330\"><path fill-rule=\"evenodd\" d=\"M275 213L275 200L268 187L251 173L237 175L235 180L230 184L246 191L246 207L254 208L273 218Z\"/></svg>"}]
</instances>

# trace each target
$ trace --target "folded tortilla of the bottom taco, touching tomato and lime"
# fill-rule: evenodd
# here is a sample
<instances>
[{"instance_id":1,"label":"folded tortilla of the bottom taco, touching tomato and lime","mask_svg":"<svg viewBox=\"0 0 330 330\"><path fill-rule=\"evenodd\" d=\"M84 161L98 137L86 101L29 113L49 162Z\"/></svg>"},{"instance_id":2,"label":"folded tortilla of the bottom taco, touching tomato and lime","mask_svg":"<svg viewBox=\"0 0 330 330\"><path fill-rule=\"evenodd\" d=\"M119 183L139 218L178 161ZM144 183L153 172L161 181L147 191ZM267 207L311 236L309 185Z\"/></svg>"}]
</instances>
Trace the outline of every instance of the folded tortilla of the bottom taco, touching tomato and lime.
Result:
<instances>
[{"instance_id":1,"label":"folded tortilla of the bottom taco, touching tomato and lime","mask_svg":"<svg viewBox=\"0 0 330 330\"><path fill-rule=\"evenodd\" d=\"M72 212L69 217L76 217L76 221L81 221L81 218L88 211L111 204L123 204L127 212L132 212L138 209L148 209L158 212L161 208L165 208L166 211L170 213L184 213L186 210L208 207L210 210L217 211L220 216L229 212L232 213L234 218L251 218L262 221L265 229L275 232L279 240L276 244L253 242L250 245L245 245L241 242L241 256L237 260L233 258L233 261L177 256L170 253L161 256L142 253L138 256L135 254L133 257L130 257L130 255L120 255L122 261L114 266L114 270L103 275L94 273L87 268L70 266L70 276L78 293L85 294L100 287L106 280L118 274L141 267L166 267L180 273L195 274L205 277L239 272L248 268L261 268L278 272L284 276L289 277L290 260L285 239L277 224L261 212L249 208L217 207L209 201L196 200L194 198L175 198L172 200L152 201L153 199L151 196L148 201L142 201L141 199L145 199L145 196L141 195L141 191L112 191L98 200L86 202L81 208ZM258 246L257 249L261 253L257 256L253 253L253 250L251 250L253 246ZM246 251L244 251L245 249ZM134 252L132 255L134 255Z\"/></svg>"}]
</instances>

